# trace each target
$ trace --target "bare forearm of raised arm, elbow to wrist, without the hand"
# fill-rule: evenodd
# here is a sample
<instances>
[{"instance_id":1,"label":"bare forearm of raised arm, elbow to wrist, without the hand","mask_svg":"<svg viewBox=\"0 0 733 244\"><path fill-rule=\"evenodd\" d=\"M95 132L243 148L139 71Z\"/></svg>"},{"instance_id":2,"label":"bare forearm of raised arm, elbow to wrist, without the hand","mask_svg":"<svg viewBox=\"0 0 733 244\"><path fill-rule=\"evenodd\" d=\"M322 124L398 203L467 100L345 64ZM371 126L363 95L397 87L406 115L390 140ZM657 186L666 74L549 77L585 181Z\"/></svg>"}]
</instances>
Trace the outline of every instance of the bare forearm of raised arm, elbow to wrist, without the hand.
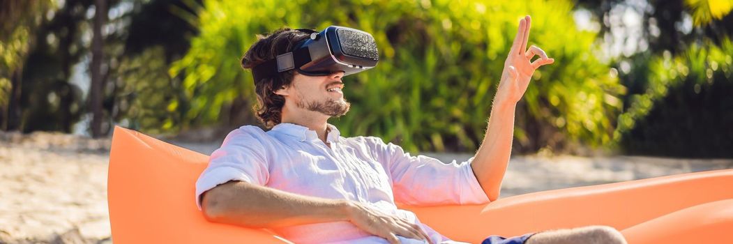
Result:
<instances>
[{"instance_id":1,"label":"bare forearm of raised arm, elbow to wrist, without the hand","mask_svg":"<svg viewBox=\"0 0 733 244\"><path fill-rule=\"evenodd\" d=\"M476 180L479 180L490 201L498 199L501 180L504 179L512 154L516 106L514 102L496 97L484 141L471 163Z\"/></svg>"}]
</instances>

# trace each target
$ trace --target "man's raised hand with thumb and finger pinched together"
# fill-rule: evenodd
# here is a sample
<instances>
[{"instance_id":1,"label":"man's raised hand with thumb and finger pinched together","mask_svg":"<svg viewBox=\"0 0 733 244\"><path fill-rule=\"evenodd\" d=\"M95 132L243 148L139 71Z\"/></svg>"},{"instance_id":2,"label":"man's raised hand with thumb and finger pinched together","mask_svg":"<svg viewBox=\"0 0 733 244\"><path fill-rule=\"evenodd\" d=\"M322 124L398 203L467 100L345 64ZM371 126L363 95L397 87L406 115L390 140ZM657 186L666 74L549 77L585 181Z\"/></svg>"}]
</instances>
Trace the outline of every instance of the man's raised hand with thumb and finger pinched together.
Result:
<instances>
[{"instance_id":1,"label":"man's raised hand with thumb and finger pinched together","mask_svg":"<svg viewBox=\"0 0 733 244\"><path fill-rule=\"evenodd\" d=\"M529 15L519 21L517 36L514 37L512 49L509 51L507 61L504 62L504 70L501 73L501 81L499 81L498 92L496 92L498 100L517 103L526 92L534 70L542 65L555 62L555 59L548 58L545 51L537 46L532 45L527 49L530 26ZM539 59L531 62L534 56L539 56Z\"/></svg>"}]
</instances>

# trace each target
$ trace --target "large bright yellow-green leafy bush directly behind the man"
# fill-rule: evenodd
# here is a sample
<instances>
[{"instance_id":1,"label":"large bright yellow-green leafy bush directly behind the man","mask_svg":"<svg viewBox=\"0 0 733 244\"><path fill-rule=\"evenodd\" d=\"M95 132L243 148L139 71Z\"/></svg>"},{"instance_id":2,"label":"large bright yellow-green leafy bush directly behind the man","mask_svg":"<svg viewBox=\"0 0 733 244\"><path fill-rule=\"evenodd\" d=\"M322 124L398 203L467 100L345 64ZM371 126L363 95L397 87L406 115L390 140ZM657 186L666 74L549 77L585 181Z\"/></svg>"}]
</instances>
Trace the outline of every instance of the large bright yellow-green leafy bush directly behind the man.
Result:
<instances>
[{"instance_id":1,"label":"large bright yellow-green leafy bush directly behind the man","mask_svg":"<svg viewBox=\"0 0 733 244\"><path fill-rule=\"evenodd\" d=\"M571 11L570 1L539 0L205 1L200 35L170 75L183 75L191 100L181 123L213 123L235 97L255 100L239 58L256 34L283 26L352 26L374 35L380 63L345 78L352 111L332 123L347 136L381 136L413 151L474 150L517 20L528 14L529 44L556 64L535 74L518 106L515 148L605 144L624 89L608 64L595 59L595 34L576 30Z\"/></svg>"}]
</instances>

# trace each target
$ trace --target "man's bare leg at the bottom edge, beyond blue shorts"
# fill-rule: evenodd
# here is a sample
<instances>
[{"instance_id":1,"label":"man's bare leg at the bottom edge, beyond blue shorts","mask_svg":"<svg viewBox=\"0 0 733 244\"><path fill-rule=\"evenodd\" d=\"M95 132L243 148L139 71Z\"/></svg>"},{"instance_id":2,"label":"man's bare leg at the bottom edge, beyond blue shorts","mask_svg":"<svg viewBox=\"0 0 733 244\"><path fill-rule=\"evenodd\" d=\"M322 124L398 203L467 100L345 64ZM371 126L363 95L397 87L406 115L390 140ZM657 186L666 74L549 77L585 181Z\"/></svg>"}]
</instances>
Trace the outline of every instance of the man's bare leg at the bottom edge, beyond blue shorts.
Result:
<instances>
[{"instance_id":1,"label":"man's bare leg at the bottom edge, beyond blue shorts","mask_svg":"<svg viewBox=\"0 0 733 244\"><path fill-rule=\"evenodd\" d=\"M539 232L529 237L526 244L626 244L621 232L609 226L585 226Z\"/></svg>"}]
</instances>

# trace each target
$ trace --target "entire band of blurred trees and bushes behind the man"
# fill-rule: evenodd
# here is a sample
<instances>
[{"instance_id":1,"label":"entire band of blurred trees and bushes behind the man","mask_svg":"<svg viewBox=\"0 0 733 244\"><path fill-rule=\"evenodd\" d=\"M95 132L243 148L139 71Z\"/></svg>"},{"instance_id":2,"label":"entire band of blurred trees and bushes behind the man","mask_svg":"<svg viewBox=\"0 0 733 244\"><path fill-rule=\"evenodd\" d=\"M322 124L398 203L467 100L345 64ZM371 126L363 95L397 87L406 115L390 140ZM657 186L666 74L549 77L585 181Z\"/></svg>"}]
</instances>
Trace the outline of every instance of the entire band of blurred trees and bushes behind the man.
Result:
<instances>
[{"instance_id":1,"label":"entire band of blurred trees and bushes behind the man","mask_svg":"<svg viewBox=\"0 0 733 244\"><path fill-rule=\"evenodd\" d=\"M345 136L479 146L517 20L556 59L517 106L515 152L733 158L731 0L17 0L0 4L0 128L122 125L223 137L257 124L240 56L284 26L372 33ZM103 11L97 11L103 10ZM207 138L200 138L207 139Z\"/></svg>"}]
</instances>

